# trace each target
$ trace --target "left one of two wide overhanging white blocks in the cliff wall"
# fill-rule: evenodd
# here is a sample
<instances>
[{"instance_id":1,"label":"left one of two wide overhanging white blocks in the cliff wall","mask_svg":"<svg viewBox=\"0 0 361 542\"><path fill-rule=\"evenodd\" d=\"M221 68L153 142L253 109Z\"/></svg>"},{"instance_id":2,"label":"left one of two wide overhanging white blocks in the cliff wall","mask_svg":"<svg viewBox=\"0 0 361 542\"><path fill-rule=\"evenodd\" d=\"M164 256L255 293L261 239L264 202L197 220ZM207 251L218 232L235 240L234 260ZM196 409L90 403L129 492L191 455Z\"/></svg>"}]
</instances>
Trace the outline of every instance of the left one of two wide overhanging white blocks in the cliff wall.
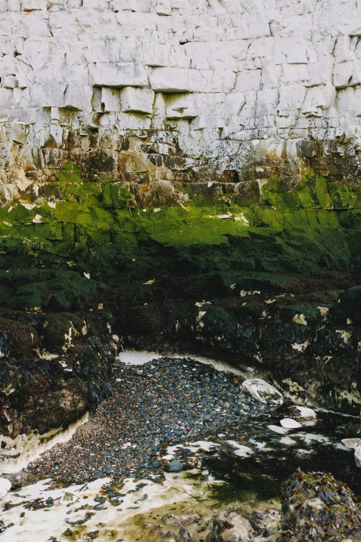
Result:
<instances>
[{"instance_id":1,"label":"left one of two wide overhanging white blocks in the cliff wall","mask_svg":"<svg viewBox=\"0 0 361 542\"><path fill-rule=\"evenodd\" d=\"M95 87L146 87L147 73L138 62L96 62L89 66Z\"/></svg>"}]
</instances>

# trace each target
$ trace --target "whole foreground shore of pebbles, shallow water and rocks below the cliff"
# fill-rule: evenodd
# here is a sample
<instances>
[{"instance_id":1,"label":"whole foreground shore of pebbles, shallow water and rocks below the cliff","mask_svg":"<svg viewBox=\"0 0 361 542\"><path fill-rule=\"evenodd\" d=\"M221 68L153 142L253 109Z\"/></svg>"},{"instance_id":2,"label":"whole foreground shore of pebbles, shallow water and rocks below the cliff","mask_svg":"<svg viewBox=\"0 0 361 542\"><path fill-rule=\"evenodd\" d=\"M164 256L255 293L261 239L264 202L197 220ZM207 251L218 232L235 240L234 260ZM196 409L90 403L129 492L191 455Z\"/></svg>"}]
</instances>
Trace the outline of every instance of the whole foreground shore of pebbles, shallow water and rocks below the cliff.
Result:
<instances>
[{"instance_id":1,"label":"whole foreground shore of pebbles, shallow water and rocks below the cliff","mask_svg":"<svg viewBox=\"0 0 361 542\"><path fill-rule=\"evenodd\" d=\"M3 532L16 532L21 540L30 541L27 529L39 514L60 512L62 520L55 522L50 536L53 542L105 540L109 533L114 540L125 536L130 541L135 532L147 542L361 539L360 511L346 485L317 472L299 470L292 475L297 465L326 468L332 463L337 470L339 461L344 476L355 482L353 453L340 440L346 434L356 437L356 424L354 435L351 422L339 426L334 436L320 435L327 428L322 412L315 418L313 410L290 401L282 404L277 395L261 402L252 397L256 396L254 381L191 358L163 357L141 365L118 360L111 384L111 397L102 401L70 441L57 444L24 471L7 477L12 491L1 501ZM261 387L258 392L262 393ZM228 489L227 497L221 496L220 488L231 487L232 482L221 470L219 482L212 476L217 473L214 464L223 462L238 487L236 494ZM257 469L263 478L255 476ZM275 472L279 481L272 480ZM245 475L239 485L239 476ZM253 491L257 485L259 494L263 491L263 498L253 503L250 490L242 491L247 476L253 477ZM178 494L180 500L174 500L178 481L188 484L188 489L185 493L178 489L183 497ZM268 501L265 482L274 488ZM37 486L38 496L33 492L33 498L26 498ZM203 497L191 505L187 499L197 487ZM216 500L210 488L216 491L214 496L221 491ZM163 500L158 501L157 493L150 490L165 491ZM24 520L28 516L30 523ZM127 521L123 519L121 527L123 517ZM124 535L122 528L127 525L133 534L125 530Z\"/></svg>"}]
</instances>

